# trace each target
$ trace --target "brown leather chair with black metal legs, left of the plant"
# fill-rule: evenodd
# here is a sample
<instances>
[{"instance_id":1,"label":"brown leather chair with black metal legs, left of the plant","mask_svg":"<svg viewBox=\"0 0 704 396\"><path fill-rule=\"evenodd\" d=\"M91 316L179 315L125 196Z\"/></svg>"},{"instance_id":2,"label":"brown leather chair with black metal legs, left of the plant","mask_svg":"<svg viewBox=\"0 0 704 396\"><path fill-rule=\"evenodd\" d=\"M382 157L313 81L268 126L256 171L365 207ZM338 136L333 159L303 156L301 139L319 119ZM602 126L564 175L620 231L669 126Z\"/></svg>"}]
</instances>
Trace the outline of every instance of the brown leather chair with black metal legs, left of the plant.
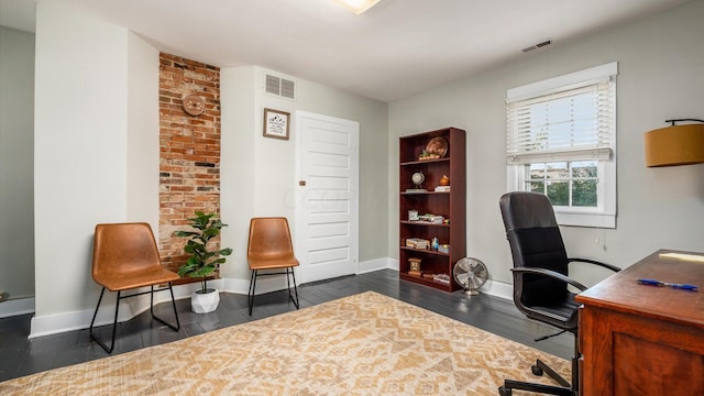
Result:
<instances>
[{"instance_id":1,"label":"brown leather chair with black metal legs, left of the plant","mask_svg":"<svg viewBox=\"0 0 704 396\"><path fill-rule=\"evenodd\" d=\"M134 296L150 294L150 312L152 318L178 331L180 322L174 300L172 282L179 278L178 274L162 266L158 248L152 228L147 223L113 223L96 226L92 248L92 278L102 286L98 306L90 321L90 338L96 340L106 352L111 353L114 348L114 337L118 328L118 311L120 300ZM168 284L168 287L154 289L155 285ZM122 292L150 286L150 290L122 296ZM92 331L106 288L118 292L112 323L112 342L108 348ZM172 294L172 305L176 326L167 323L154 315L154 292L168 289Z\"/></svg>"}]
</instances>

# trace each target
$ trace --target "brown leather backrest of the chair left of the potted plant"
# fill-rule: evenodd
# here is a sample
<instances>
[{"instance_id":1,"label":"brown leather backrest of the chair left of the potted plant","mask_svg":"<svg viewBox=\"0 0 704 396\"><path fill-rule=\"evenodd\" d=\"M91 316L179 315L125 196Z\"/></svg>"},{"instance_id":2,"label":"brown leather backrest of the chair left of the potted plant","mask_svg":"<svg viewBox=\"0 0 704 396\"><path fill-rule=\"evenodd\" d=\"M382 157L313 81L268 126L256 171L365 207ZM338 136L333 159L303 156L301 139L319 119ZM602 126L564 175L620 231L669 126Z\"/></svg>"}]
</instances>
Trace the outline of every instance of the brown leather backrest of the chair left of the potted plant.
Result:
<instances>
[{"instance_id":1,"label":"brown leather backrest of the chair left of the potted plant","mask_svg":"<svg viewBox=\"0 0 704 396\"><path fill-rule=\"evenodd\" d=\"M118 275L161 266L158 248L148 223L96 226L92 275Z\"/></svg>"}]
</instances>

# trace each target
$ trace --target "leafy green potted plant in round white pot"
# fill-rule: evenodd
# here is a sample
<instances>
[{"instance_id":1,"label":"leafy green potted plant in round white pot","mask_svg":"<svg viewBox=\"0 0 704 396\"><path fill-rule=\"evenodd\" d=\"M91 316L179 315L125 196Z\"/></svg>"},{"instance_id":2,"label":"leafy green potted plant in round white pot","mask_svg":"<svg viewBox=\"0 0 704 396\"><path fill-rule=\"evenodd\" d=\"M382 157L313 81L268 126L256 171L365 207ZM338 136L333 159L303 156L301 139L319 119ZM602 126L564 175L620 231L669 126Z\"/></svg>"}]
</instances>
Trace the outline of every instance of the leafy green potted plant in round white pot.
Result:
<instances>
[{"instance_id":1,"label":"leafy green potted plant in round white pot","mask_svg":"<svg viewBox=\"0 0 704 396\"><path fill-rule=\"evenodd\" d=\"M219 219L213 219L216 213L196 211L196 217L188 219L189 226L196 231L176 231L174 235L188 238L184 251L190 256L178 268L180 277L189 276L200 278L200 289L196 290L190 299L191 310L196 314L211 312L218 308L220 295L218 289L208 288L207 280L220 264L226 262L227 255L232 254L232 249L226 248L210 251L208 242L220 235L220 230L228 224Z\"/></svg>"}]
</instances>

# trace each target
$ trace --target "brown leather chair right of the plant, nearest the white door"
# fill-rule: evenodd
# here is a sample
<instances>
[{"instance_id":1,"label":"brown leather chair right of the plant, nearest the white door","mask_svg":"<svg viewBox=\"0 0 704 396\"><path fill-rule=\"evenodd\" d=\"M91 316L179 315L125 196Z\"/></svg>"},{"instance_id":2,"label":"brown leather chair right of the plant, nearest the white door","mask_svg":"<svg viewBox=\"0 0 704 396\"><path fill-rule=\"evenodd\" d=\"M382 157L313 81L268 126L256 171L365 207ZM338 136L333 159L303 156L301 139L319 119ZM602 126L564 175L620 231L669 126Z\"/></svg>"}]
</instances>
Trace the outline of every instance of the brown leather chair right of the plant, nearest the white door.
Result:
<instances>
[{"instance_id":1,"label":"brown leather chair right of the plant, nearest the white door","mask_svg":"<svg viewBox=\"0 0 704 396\"><path fill-rule=\"evenodd\" d=\"M276 218L253 218L250 221L250 242L246 249L246 260L252 270L248 300L250 304L250 316L254 306L254 288L257 276L283 275L286 274L288 286L288 298L294 302L296 309L298 304L298 288L296 287L296 275L294 267L298 266L298 258L294 255L294 245L290 241L290 230L288 220L283 217ZM286 270L285 272L263 273L266 270ZM290 277L294 282L296 298L290 293Z\"/></svg>"}]
</instances>

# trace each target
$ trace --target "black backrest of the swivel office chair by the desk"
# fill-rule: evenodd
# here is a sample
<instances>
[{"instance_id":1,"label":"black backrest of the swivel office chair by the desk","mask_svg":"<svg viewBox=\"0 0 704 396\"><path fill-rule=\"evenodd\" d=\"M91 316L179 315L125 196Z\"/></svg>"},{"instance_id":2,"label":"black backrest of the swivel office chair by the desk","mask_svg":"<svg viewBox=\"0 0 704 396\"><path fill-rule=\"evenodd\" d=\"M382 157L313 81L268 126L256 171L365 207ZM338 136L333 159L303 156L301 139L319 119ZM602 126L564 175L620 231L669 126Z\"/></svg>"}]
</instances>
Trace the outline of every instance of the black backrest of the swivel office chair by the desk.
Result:
<instances>
[{"instance_id":1,"label":"black backrest of the swivel office chair by the desk","mask_svg":"<svg viewBox=\"0 0 704 396\"><path fill-rule=\"evenodd\" d=\"M539 267L568 274L568 255L548 197L537 193L505 194L499 201L515 267ZM514 300L526 306L562 300L566 284L546 276L514 276Z\"/></svg>"}]
</instances>

